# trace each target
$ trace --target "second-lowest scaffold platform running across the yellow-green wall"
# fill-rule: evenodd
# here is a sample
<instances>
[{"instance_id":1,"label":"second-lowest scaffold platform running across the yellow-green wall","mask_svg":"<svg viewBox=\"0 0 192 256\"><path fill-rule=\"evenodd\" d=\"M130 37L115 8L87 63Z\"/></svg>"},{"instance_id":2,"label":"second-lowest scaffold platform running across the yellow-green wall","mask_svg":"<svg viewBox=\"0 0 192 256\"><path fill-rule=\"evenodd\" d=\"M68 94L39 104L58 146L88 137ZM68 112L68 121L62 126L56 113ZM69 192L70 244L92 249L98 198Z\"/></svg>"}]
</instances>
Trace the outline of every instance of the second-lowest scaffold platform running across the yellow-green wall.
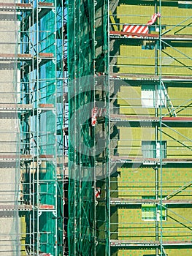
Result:
<instances>
[{"instance_id":1,"label":"second-lowest scaffold platform running across the yellow-green wall","mask_svg":"<svg viewBox=\"0 0 192 256\"><path fill-rule=\"evenodd\" d=\"M112 205L142 205L142 204L148 204L148 203L154 203L159 204L161 200L156 199L135 199L135 198L110 198L110 204ZM162 203L170 204L170 205L191 205L192 200L162 200Z\"/></svg>"}]
</instances>

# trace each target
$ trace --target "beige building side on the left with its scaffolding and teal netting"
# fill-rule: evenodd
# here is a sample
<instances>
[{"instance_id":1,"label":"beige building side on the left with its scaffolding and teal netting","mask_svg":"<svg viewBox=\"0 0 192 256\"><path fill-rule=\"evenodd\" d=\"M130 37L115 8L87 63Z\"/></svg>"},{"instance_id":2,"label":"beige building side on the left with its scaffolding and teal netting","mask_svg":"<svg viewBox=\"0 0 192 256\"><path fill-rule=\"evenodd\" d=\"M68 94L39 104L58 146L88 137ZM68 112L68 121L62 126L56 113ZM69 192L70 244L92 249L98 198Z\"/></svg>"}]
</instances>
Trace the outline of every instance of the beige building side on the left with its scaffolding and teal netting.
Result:
<instances>
[{"instance_id":1,"label":"beige building side on the left with its scaffolding and teal netting","mask_svg":"<svg viewBox=\"0 0 192 256\"><path fill-rule=\"evenodd\" d=\"M63 1L0 12L0 255L64 255Z\"/></svg>"}]
</instances>

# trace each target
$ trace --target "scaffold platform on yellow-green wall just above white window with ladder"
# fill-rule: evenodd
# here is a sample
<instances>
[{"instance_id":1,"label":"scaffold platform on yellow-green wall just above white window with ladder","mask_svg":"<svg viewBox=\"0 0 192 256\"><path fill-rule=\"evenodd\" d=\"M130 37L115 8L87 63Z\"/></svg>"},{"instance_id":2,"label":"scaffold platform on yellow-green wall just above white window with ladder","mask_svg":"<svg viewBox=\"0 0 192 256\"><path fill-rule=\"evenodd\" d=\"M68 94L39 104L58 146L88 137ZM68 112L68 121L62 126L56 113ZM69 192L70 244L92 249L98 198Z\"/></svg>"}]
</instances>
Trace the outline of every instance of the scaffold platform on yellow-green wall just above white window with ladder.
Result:
<instances>
[{"instance_id":1,"label":"scaffold platform on yellow-green wall just above white window with ladder","mask_svg":"<svg viewBox=\"0 0 192 256\"><path fill-rule=\"evenodd\" d=\"M110 73L110 79L112 80L154 80L154 81L179 81L179 82L191 82L192 75L145 75L145 74L127 74L127 73Z\"/></svg>"}]
</instances>

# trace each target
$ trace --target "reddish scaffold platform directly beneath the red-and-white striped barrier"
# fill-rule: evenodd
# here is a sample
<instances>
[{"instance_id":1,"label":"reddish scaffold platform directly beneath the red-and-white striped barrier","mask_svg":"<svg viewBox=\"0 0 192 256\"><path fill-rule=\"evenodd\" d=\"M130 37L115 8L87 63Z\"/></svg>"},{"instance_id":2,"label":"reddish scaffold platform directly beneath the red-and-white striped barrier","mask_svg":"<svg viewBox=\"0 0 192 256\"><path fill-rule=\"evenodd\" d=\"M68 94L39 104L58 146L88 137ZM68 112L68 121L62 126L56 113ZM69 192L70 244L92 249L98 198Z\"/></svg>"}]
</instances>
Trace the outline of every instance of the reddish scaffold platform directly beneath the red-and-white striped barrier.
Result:
<instances>
[{"instance_id":1,"label":"reddish scaffold platform directly beneath the red-and-white striped barrier","mask_svg":"<svg viewBox=\"0 0 192 256\"><path fill-rule=\"evenodd\" d=\"M143 34L143 33L132 33L124 31L110 31L111 38L120 39L159 39L159 34ZM161 39L163 40L176 40L176 41L192 41L192 35L190 34L162 34Z\"/></svg>"}]
</instances>

